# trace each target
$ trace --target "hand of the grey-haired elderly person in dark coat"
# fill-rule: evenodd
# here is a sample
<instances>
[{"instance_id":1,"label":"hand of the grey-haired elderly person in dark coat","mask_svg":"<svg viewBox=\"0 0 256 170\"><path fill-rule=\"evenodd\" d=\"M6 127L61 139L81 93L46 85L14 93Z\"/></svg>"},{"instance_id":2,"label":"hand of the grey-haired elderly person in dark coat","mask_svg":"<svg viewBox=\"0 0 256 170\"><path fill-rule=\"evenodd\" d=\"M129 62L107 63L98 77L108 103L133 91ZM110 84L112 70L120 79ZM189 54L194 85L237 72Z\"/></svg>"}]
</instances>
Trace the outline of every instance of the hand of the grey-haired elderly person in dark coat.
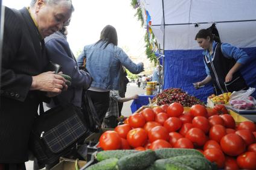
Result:
<instances>
[{"instance_id":1,"label":"hand of the grey-haired elderly person in dark coat","mask_svg":"<svg viewBox=\"0 0 256 170\"><path fill-rule=\"evenodd\" d=\"M67 89L66 80L61 75L54 72L43 72L42 74L33 76L30 90L40 90L43 92L61 93Z\"/></svg>"}]
</instances>

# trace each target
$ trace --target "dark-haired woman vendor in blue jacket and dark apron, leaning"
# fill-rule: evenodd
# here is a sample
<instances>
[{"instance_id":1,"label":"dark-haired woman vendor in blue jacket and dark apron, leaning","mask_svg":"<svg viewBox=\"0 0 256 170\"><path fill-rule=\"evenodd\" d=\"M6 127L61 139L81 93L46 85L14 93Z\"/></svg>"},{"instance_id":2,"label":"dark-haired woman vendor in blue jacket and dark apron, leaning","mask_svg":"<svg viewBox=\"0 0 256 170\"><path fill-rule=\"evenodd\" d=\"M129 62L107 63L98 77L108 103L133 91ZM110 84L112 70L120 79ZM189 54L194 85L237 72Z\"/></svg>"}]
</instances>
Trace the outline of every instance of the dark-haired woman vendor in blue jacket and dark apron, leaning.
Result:
<instances>
[{"instance_id":1,"label":"dark-haired woman vendor in blue jacket and dark apron, leaning","mask_svg":"<svg viewBox=\"0 0 256 170\"><path fill-rule=\"evenodd\" d=\"M216 95L248 89L239 69L249 60L249 56L242 49L213 39L213 34L206 29L196 34L195 40L204 49L203 61L207 76L204 80L193 83L194 87L212 81Z\"/></svg>"}]
</instances>

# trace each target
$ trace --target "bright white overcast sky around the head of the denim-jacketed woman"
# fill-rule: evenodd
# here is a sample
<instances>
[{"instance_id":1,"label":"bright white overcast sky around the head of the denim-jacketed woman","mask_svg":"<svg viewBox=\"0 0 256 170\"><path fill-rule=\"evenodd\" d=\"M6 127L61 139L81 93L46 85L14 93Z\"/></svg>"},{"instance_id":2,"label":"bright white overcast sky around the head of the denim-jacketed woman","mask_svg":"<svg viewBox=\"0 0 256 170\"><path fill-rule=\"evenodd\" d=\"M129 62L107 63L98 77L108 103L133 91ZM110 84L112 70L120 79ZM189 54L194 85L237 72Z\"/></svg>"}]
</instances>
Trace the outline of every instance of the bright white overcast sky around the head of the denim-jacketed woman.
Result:
<instances>
[{"instance_id":1,"label":"bright white overcast sky around the head of the denim-jacketed woman","mask_svg":"<svg viewBox=\"0 0 256 170\"><path fill-rule=\"evenodd\" d=\"M68 42L74 54L96 42L106 25L117 29L118 46L130 56L144 55L145 29L134 17L130 0L72 0L75 11L68 27ZM7 7L21 9L30 0L3 0Z\"/></svg>"}]
</instances>

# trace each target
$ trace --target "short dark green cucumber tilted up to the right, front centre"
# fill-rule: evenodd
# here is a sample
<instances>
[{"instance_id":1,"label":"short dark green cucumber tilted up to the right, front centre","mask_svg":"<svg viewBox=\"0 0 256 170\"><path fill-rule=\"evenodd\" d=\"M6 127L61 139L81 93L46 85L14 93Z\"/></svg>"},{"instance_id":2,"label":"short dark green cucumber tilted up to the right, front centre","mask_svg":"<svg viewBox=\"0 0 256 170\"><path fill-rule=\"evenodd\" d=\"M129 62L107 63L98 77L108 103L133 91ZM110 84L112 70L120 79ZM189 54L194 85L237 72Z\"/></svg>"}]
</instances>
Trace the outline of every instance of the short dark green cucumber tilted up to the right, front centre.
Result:
<instances>
[{"instance_id":1,"label":"short dark green cucumber tilted up to the right, front centre","mask_svg":"<svg viewBox=\"0 0 256 170\"><path fill-rule=\"evenodd\" d=\"M118 160L118 170L138 170L145 169L156 160L156 154L152 150L139 151L129 156L121 157Z\"/></svg>"}]
</instances>

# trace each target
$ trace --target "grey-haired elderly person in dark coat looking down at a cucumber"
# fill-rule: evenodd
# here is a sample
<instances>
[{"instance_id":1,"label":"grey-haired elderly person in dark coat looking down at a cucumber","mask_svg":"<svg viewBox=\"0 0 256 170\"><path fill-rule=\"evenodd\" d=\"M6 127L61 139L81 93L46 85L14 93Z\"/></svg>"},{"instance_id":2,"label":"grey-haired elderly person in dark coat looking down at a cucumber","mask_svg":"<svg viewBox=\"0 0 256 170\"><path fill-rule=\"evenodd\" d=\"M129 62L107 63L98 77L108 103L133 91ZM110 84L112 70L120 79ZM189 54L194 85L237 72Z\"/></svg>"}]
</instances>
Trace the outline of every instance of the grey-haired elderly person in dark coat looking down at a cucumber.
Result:
<instances>
[{"instance_id":1,"label":"grey-haired elderly person in dark coat looking down at a cucumber","mask_svg":"<svg viewBox=\"0 0 256 170\"><path fill-rule=\"evenodd\" d=\"M25 169L28 138L39 102L67 88L66 80L45 72L44 38L62 28L71 0L33 0L30 7L5 7L1 66L0 167Z\"/></svg>"}]
</instances>

